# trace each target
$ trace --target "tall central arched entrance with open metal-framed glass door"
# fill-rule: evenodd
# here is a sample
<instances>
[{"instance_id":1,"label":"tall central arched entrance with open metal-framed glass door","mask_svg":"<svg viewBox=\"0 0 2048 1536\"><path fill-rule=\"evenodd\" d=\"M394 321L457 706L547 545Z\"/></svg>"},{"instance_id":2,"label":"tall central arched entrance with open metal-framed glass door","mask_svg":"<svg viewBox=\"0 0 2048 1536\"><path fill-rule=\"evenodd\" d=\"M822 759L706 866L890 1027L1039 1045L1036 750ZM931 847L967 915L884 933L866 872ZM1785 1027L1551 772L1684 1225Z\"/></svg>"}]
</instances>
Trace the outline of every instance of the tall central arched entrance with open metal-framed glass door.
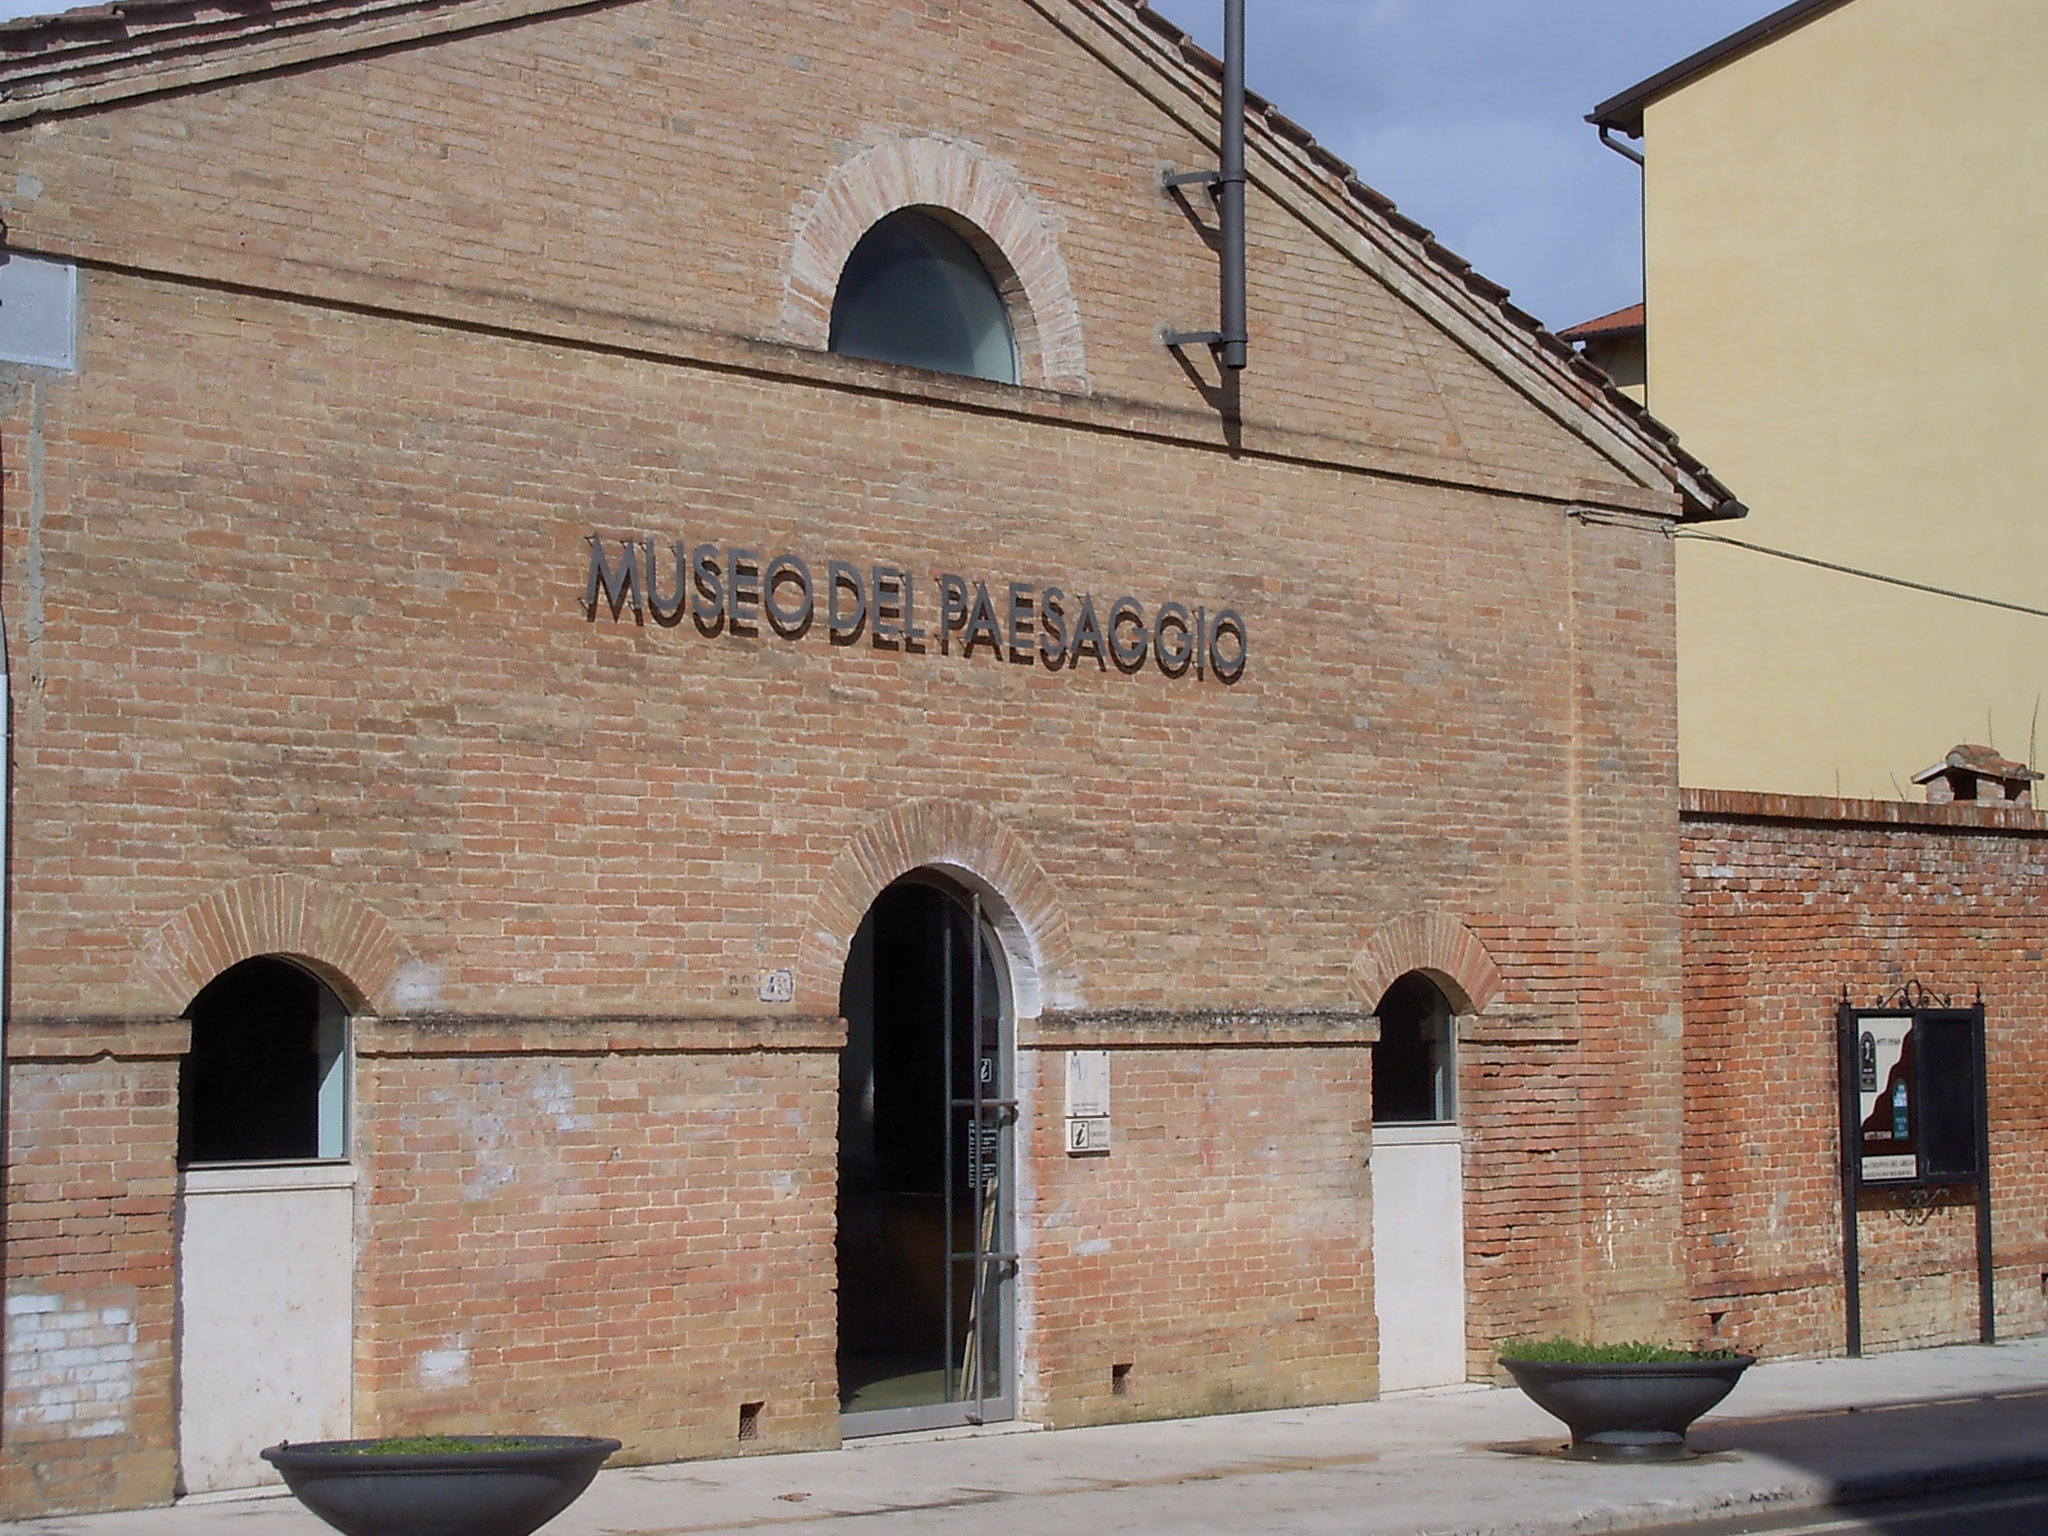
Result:
<instances>
[{"instance_id":1,"label":"tall central arched entrance with open metal-framed glass door","mask_svg":"<svg viewBox=\"0 0 2048 1536\"><path fill-rule=\"evenodd\" d=\"M1012 995L979 897L918 870L840 985L842 1432L1016 1411Z\"/></svg>"}]
</instances>

